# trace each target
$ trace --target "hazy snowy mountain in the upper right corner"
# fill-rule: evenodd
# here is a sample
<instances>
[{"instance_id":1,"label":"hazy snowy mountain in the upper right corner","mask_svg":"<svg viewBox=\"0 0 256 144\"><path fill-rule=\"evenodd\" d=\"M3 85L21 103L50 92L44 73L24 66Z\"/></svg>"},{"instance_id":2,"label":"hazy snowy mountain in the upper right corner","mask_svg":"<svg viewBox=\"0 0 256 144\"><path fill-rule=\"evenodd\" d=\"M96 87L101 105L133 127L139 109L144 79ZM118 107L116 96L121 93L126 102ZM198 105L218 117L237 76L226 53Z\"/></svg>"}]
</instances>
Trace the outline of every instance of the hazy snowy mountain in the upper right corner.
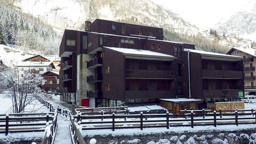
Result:
<instances>
[{"instance_id":1,"label":"hazy snowy mountain in the upper right corner","mask_svg":"<svg viewBox=\"0 0 256 144\"><path fill-rule=\"evenodd\" d=\"M228 20L218 22L214 29L229 36L256 41L256 2L251 4L253 5L252 9L231 15Z\"/></svg>"}]
</instances>

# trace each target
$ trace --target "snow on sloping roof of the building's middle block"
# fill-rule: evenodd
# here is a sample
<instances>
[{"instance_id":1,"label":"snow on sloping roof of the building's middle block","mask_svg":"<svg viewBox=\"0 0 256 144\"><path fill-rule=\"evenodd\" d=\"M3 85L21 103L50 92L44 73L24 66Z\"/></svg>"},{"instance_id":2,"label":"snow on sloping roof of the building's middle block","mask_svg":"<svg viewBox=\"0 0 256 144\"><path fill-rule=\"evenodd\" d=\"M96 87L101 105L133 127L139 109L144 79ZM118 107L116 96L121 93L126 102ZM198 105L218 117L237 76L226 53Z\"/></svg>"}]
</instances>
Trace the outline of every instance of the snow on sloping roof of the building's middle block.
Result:
<instances>
[{"instance_id":1,"label":"snow on sloping roof of the building's middle block","mask_svg":"<svg viewBox=\"0 0 256 144\"><path fill-rule=\"evenodd\" d=\"M159 52L148 51L148 50L127 49L127 48L107 47L107 46L104 46L104 47L107 48L107 49L114 50L114 51L122 52L124 54L151 55L151 56L158 56L158 57L174 58L172 55L163 54L163 53L159 53Z\"/></svg>"}]
</instances>

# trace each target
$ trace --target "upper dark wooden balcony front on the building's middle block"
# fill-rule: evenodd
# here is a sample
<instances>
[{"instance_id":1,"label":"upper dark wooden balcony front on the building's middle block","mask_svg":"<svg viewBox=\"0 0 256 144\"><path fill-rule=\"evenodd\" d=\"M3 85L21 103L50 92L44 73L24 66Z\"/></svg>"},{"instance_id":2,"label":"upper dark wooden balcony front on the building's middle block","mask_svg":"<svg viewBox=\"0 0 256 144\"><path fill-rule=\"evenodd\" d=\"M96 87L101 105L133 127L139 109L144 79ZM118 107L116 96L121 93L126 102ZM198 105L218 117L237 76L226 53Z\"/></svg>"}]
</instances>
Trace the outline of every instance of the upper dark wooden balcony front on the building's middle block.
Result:
<instances>
[{"instance_id":1,"label":"upper dark wooden balcony front on the building's middle block","mask_svg":"<svg viewBox=\"0 0 256 144\"><path fill-rule=\"evenodd\" d=\"M158 79L175 79L174 70L131 70L126 69L126 78L158 78Z\"/></svg>"}]
</instances>

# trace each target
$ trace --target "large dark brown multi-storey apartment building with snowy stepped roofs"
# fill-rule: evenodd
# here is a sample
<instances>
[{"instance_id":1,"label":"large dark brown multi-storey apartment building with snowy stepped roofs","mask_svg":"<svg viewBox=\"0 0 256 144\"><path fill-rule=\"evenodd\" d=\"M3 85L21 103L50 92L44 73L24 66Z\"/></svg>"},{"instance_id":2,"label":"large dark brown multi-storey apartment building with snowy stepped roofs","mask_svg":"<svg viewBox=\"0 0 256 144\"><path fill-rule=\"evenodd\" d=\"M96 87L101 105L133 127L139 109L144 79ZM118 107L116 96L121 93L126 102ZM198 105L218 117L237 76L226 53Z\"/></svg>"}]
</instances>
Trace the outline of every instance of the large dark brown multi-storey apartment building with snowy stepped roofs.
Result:
<instances>
[{"instance_id":1,"label":"large dark brown multi-storey apartment building with snowy stepped roofs","mask_svg":"<svg viewBox=\"0 0 256 144\"><path fill-rule=\"evenodd\" d=\"M59 55L61 100L76 105L178 100L179 109L203 108L244 91L242 57L163 41L162 28L86 21L85 31L65 30Z\"/></svg>"}]
</instances>

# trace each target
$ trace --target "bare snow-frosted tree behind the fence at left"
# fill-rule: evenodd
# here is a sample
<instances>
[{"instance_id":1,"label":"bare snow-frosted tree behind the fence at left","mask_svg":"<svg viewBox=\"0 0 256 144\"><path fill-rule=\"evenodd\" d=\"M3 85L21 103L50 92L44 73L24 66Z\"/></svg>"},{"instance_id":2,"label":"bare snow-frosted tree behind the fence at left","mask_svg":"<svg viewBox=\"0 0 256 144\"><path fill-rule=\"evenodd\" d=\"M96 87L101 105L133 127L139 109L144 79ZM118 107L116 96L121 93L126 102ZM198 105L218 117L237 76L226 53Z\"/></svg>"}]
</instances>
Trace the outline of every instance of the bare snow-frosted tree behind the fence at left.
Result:
<instances>
[{"instance_id":1,"label":"bare snow-frosted tree behind the fence at left","mask_svg":"<svg viewBox=\"0 0 256 144\"><path fill-rule=\"evenodd\" d=\"M30 71L20 71L17 69L7 70L8 85L6 90L12 99L13 113L21 113L25 107L36 97L42 97L44 94L40 89L41 79L40 76L35 76Z\"/></svg>"}]
</instances>

